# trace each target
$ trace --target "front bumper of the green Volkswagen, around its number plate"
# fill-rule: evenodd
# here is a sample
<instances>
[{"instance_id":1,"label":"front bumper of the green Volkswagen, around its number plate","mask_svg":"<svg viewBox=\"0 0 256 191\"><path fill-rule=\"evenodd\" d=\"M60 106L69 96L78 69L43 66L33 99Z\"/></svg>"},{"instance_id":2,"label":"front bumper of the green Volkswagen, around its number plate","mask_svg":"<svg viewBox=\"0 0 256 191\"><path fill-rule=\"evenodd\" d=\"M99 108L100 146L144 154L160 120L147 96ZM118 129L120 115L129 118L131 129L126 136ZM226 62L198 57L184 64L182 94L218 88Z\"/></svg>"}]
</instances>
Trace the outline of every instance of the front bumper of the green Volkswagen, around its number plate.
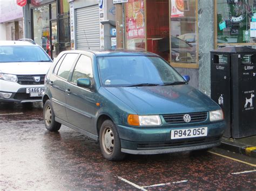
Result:
<instances>
[{"instance_id":1,"label":"front bumper of the green Volkswagen, around its number plate","mask_svg":"<svg viewBox=\"0 0 256 191\"><path fill-rule=\"evenodd\" d=\"M193 125L193 128L207 126L206 137L194 137L183 139L171 139L171 130L188 129L189 126L173 125L170 127L158 128L131 128L117 125L118 134L121 140L121 151L131 154L160 154L203 150L220 145L226 124L224 121Z\"/></svg>"}]
</instances>

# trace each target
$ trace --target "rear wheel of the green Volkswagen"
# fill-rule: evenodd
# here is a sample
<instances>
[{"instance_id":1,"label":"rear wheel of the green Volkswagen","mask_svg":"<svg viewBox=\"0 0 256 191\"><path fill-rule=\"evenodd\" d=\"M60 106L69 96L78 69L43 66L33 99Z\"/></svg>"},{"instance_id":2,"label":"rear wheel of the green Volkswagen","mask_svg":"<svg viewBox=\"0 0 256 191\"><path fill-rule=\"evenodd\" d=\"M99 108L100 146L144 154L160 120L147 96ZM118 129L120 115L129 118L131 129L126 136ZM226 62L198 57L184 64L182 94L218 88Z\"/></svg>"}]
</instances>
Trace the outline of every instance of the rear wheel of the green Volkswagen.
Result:
<instances>
[{"instance_id":1,"label":"rear wheel of the green Volkswagen","mask_svg":"<svg viewBox=\"0 0 256 191\"><path fill-rule=\"evenodd\" d=\"M62 125L55 121L55 114L50 100L47 100L44 104L44 125L48 131L54 132L57 132Z\"/></svg>"}]
</instances>

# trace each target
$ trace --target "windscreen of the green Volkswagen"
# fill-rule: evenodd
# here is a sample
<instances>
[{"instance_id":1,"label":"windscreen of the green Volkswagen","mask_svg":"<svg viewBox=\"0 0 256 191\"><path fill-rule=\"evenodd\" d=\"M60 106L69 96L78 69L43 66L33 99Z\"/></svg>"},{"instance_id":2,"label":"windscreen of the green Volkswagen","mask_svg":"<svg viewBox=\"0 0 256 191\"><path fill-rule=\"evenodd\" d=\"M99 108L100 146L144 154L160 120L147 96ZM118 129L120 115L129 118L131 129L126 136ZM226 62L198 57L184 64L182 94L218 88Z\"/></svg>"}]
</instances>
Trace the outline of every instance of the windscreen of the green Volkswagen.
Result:
<instances>
[{"instance_id":1,"label":"windscreen of the green Volkswagen","mask_svg":"<svg viewBox=\"0 0 256 191\"><path fill-rule=\"evenodd\" d=\"M158 56L99 57L98 68L100 81L105 87L185 83L183 77Z\"/></svg>"}]
</instances>

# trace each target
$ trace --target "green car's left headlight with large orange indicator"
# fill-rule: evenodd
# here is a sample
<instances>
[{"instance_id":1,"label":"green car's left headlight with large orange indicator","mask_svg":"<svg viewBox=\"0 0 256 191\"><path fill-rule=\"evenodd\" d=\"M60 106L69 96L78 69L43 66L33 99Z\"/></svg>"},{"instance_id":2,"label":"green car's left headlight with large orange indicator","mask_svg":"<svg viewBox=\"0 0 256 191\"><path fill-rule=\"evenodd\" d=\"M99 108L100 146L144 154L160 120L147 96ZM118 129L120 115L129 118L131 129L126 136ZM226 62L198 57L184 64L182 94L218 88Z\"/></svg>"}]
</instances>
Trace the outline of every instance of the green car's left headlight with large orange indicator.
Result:
<instances>
[{"instance_id":1,"label":"green car's left headlight with large orange indicator","mask_svg":"<svg viewBox=\"0 0 256 191\"><path fill-rule=\"evenodd\" d=\"M129 115L127 122L133 126L158 126L162 124L159 115Z\"/></svg>"}]
</instances>

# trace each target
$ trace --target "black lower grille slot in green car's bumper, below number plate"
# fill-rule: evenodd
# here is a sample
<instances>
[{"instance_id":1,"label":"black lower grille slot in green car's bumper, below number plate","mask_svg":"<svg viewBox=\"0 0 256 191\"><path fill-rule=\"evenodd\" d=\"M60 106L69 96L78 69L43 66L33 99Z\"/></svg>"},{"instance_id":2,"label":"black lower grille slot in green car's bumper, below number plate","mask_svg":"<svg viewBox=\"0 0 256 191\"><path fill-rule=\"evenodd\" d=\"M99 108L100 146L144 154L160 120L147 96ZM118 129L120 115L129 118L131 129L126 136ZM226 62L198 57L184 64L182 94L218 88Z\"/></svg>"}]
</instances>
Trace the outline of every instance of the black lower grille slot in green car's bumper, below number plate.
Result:
<instances>
[{"instance_id":1,"label":"black lower grille slot in green car's bumper, below number plate","mask_svg":"<svg viewBox=\"0 0 256 191\"><path fill-rule=\"evenodd\" d=\"M179 147L179 146L192 146L192 145L200 145L200 144L210 144L215 143L220 140L220 137L212 137L212 138L200 138L200 139L184 139L184 140L173 140L171 142L154 142L154 143L140 143L137 144L138 149L160 149L160 148L168 148L168 147Z\"/></svg>"}]
</instances>

